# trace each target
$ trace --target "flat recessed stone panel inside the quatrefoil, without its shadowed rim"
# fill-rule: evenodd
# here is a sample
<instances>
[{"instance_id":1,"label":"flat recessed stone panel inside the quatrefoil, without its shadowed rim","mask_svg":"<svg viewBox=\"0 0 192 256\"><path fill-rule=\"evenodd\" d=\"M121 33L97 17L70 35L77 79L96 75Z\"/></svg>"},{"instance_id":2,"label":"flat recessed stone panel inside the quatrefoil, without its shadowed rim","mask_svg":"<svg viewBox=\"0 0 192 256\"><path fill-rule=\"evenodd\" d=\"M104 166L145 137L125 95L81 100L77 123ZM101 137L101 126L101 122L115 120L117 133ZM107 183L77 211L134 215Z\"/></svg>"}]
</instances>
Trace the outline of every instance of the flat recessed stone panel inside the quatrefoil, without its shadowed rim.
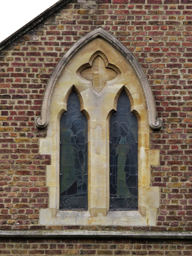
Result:
<instances>
[{"instance_id":1,"label":"flat recessed stone panel inside the quatrefoil, without its shadowed rim","mask_svg":"<svg viewBox=\"0 0 192 256\"><path fill-rule=\"evenodd\" d=\"M93 60L92 66L84 68L80 75L86 80L92 81L93 88L99 93L105 87L105 82L114 79L117 72L113 68L107 67L103 58L98 55Z\"/></svg>"}]
</instances>

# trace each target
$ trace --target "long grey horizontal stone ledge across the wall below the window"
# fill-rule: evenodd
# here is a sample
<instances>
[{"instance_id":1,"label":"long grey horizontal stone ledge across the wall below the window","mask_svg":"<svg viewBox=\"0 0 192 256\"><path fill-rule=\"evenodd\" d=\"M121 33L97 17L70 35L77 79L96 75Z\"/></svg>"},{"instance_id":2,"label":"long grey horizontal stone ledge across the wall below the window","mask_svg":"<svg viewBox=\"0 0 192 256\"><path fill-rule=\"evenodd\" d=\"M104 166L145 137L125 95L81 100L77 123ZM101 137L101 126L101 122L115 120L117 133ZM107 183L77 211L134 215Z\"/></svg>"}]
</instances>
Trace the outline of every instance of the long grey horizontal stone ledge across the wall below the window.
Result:
<instances>
[{"instance_id":1,"label":"long grey horizontal stone ledge across the wall below the window","mask_svg":"<svg viewBox=\"0 0 192 256\"><path fill-rule=\"evenodd\" d=\"M0 230L0 238L141 238L141 239L192 239L192 232L178 231L89 231L89 230Z\"/></svg>"}]
</instances>

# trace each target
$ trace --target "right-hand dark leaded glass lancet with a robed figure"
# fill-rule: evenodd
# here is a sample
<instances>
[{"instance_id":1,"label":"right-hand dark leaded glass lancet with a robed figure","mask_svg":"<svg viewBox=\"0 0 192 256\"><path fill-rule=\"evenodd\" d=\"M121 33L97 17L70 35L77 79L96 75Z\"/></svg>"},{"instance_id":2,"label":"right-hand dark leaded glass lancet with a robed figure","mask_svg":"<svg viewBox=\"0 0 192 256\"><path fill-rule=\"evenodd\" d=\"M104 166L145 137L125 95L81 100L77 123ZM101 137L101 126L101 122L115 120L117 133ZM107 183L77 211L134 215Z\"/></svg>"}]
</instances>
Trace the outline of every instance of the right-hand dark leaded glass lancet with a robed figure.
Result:
<instances>
[{"instance_id":1,"label":"right-hand dark leaded glass lancet with a robed figure","mask_svg":"<svg viewBox=\"0 0 192 256\"><path fill-rule=\"evenodd\" d=\"M138 205L138 121L123 92L117 111L110 118L110 208L137 210Z\"/></svg>"}]
</instances>

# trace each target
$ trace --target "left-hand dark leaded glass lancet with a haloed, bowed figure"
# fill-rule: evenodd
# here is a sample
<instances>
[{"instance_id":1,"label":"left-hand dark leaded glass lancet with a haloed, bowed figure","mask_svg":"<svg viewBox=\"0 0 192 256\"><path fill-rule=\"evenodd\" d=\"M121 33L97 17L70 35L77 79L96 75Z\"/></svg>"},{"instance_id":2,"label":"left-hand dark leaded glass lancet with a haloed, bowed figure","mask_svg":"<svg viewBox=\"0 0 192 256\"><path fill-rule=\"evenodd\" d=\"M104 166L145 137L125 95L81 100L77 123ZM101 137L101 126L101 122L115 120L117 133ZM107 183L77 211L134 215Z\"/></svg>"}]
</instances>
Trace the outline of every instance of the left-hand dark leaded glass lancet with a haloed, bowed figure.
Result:
<instances>
[{"instance_id":1,"label":"left-hand dark leaded glass lancet with a haloed, bowed figure","mask_svg":"<svg viewBox=\"0 0 192 256\"><path fill-rule=\"evenodd\" d=\"M87 209L87 118L76 92L60 118L60 210Z\"/></svg>"}]
</instances>

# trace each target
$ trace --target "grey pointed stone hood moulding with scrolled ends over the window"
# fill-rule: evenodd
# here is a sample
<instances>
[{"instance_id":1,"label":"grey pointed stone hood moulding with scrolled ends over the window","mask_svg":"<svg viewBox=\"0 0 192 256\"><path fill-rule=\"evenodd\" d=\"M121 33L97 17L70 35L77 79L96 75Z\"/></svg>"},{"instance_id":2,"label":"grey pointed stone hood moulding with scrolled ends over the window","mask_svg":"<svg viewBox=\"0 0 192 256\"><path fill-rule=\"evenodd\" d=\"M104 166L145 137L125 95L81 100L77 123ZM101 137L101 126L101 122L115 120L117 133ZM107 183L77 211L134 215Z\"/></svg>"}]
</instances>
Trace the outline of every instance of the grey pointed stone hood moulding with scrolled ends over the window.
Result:
<instances>
[{"instance_id":1,"label":"grey pointed stone hood moulding with scrolled ends over the window","mask_svg":"<svg viewBox=\"0 0 192 256\"><path fill-rule=\"evenodd\" d=\"M37 119L35 120L36 126L38 128L45 128L47 126L49 122L49 113L50 113L52 94L54 92L54 88L57 83L57 80L59 79L63 69L66 67L69 60L71 60L71 58L76 54L76 52L78 52L85 44L92 41L96 37L101 37L107 42L109 42L110 44L112 44L126 58L126 60L128 60L128 62L130 63L130 65L132 66L133 70L135 71L136 75L140 80L140 83L143 88L143 92L146 97L149 126L152 129L160 129L162 127L162 119L158 118L156 115L155 101L151 91L151 87L149 85L148 79L143 69L141 68L139 62L123 44L121 44L114 36L112 36L102 28L97 28L91 33L81 38L61 58L60 62L58 63L55 70L53 71L53 74L48 82L47 89L45 91L45 95L43 99L41 116L37 117Z\"/></svg>"}]
</instances>

